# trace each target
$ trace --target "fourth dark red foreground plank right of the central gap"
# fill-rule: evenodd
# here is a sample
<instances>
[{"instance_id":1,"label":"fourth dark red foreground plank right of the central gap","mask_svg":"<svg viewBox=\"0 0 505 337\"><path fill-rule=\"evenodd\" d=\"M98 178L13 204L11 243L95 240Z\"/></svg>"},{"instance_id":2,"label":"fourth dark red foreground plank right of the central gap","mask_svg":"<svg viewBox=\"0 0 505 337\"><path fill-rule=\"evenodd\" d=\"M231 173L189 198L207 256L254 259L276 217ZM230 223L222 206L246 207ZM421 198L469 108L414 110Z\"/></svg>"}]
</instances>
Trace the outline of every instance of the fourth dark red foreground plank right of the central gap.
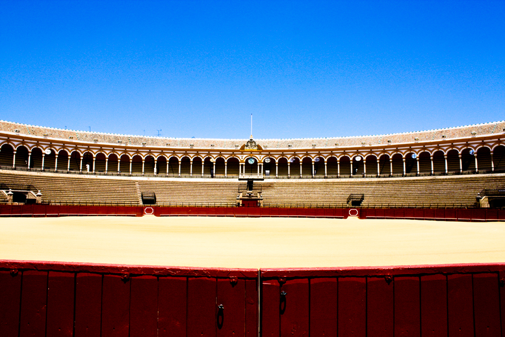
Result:
<instances>
[{"instance_id":1,"label":"fourth dark red foreground plank right of the central gap","mask_svg":"<svg viewBox=\"0 0 505 337\"><path fill-rule=\"evenodd\" d=\"M365 277L338 278L338 336L365 336L366 329Z\"/></svg>"}]
</instances>

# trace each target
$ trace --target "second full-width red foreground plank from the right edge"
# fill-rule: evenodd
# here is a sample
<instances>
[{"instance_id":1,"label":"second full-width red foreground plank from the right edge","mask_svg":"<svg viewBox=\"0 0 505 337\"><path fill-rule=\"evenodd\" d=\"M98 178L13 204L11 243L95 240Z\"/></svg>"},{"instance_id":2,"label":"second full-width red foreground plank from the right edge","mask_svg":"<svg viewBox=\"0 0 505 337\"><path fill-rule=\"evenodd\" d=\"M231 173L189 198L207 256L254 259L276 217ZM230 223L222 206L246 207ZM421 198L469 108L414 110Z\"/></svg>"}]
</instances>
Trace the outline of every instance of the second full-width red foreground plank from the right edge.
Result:
<instances>
[{"instance_id":1,"label":"second full-width red foreground plank from the right edge","mask_svg":"<svg viewBox=\"0 0 505 337\"><path fill-rule=\"evenodd\" d=\"M473 289L471 274L447 275L448 335L474 335Z\"/></svg>"}]
</instances>

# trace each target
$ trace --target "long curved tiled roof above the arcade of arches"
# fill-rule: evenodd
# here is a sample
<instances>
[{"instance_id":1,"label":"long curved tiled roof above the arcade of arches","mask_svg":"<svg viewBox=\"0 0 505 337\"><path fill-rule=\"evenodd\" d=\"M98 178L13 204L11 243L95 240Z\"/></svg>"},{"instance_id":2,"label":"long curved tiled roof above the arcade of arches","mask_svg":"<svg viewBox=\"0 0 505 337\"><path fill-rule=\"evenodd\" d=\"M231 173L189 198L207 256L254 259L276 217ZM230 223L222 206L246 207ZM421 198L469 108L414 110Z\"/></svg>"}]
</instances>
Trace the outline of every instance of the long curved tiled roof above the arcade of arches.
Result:
<instances>
[{"instance_id":1,"label":"long curved tiled roof above the arcade of arches","mask_svg":"<svg viewBox=\"0 0 505 337\"><path fill-rule=\"evenodd\" d=\"M145 137L124 134L88 132L64 130L51 127L34 126L13 122L0 121L0 132L16 132L32 136L57 139L73 139L93 143L94 139L98 143L142 146L145 142L147 147L170 147L170 148L190 148L192 144L194 149L237 149L241 147L248 139L203 139L203 138L167 138L167 137ZM352 137L330 137L330 138L304 138L304 139L255 139L256 142L268 149L311 149L311 148L335 148L335 147L357 147L357 146L375 146L401 143L414 143L415 138L418 141L454 139L475 136L490 135L495 133L505 133L505 121L475 124L467 126L457 126L445 129L435 129L428 131L415 131L405 133L392 133L373 136L352 136ZM442 137L445 136L445 137ZM73 137L73 138L71 138ZM336 145L338 144L338 145ZM214 145L212 147L212 145ZM314 146L315 145L315 146Z\"/></svg>"}]
</instances>

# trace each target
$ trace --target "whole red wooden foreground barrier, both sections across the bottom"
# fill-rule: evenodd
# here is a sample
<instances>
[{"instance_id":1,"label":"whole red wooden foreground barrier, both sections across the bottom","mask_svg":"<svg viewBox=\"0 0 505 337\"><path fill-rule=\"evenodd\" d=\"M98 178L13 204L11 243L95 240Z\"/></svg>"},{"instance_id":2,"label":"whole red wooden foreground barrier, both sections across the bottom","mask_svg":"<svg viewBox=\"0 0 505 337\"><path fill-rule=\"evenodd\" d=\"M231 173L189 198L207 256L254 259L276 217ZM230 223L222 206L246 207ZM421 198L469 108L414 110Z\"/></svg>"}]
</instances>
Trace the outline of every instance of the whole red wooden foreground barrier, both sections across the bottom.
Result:
<instances>
[{"instance_id":1,"label":"whole red wooden foreground barrier, both sections across the bottom","mask_svg":"<svg viewBox=\"0 0 505 337\"><path fill-rule=\"evenodd\" d=\"M2 336L501 336L505 264L219 269L0 261Z\"/></svg>"}]
</instances>

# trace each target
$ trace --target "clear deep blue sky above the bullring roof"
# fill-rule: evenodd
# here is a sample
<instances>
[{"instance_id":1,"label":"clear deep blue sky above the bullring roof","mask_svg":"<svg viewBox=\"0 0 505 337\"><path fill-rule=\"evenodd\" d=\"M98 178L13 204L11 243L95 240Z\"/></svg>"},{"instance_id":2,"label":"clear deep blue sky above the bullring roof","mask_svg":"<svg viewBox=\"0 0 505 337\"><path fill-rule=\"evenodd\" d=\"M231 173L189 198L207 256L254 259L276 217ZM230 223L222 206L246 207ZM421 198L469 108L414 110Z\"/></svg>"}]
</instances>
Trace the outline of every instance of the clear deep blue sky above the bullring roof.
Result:
<instances>
[{"instance_id":1,"label":"clear deep blue sky above the bullring roof","mask_svg":"<svg viewBox=\"0 0 505 337\"><path fill-rule=\"evenodd\" d=\"M382 134L505 119L505 2L0 0L0 119ZM144 131L145 130L145 131Z\"/></svg>"}]
</instances>

